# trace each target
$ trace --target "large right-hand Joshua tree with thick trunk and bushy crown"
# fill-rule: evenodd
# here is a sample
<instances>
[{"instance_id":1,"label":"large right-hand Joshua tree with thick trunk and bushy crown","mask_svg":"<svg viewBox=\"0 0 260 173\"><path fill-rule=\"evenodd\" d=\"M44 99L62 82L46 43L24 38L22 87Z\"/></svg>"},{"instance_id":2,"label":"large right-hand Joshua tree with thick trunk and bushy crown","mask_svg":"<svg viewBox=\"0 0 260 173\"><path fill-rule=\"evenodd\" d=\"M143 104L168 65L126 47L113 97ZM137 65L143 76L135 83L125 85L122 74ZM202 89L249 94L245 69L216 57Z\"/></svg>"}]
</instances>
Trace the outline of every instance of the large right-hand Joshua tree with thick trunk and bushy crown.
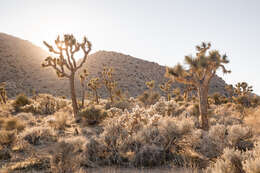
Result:
<instances>
[{"instance_id":1,"label":"large right-hand Joshua tree with thick trunk and bushy crown","mask_svg":"<svg viewBox=\"0 0 260 173\"><path fill-rule=\"evenodd\" d=\"M203 42L196 46L196 57L185 56L187 70L180 64L166 69L167 77L172 77L180 83L194 85L197 88L201 126L204 130L209 129L207 99L210 80L218 69L222 69L223 73L230 73L224 66L224 64L229 63L227 56L220 55L217 50L209 51L210 47L210 43Z\"/></svg>"}]
</instances>

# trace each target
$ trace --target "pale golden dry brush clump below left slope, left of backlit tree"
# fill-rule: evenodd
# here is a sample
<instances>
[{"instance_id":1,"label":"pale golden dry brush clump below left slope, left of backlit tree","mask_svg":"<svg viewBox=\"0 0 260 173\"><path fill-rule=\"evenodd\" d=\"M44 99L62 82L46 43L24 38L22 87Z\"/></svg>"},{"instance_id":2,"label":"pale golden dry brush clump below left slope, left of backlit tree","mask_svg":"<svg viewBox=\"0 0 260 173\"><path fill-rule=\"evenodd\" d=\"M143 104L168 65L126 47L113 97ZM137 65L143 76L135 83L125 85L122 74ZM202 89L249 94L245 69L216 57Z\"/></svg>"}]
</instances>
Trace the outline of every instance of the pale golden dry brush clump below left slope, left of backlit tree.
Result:
<instances>
[{"instance_id":1,"label":"pale golden dry brush clump below left slope, left of backlit tree","mask_svg":"<svg viewBox=\"0 0 260 173\"><path fill-rule=\"evenodd\" d=\"M20 109L23 112L50 115L66 107L67 105L68 101L65 99L54 97L49 94L39 94L36 97L36 100L32 100L30 104L24 105Z\"/></svg>"}]
</instances>

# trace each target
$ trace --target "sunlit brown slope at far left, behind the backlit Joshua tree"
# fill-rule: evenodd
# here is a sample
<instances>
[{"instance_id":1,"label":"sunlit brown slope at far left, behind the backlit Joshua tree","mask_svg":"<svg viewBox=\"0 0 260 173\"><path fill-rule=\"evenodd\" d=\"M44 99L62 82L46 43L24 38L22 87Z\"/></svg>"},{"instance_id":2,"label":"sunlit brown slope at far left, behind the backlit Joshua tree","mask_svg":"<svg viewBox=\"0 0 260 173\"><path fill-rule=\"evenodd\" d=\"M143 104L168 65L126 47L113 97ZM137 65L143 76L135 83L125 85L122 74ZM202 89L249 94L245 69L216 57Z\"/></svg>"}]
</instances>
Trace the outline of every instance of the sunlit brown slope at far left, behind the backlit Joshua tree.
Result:
<instances>
[{"instance_id":1,"label":"sunlit brown slope at far left, behind the backlit Joshua tree","mask_svg":"<svg viewBox=\"0 0 260 173\"><path fill-rule=\"evenodd\" d=\"M6 82L9 97L18 93L61 94L59 81L52 69L43 69L48 53L29 41L0 33L0 82Z\"/></svg>"}]
</instances>

